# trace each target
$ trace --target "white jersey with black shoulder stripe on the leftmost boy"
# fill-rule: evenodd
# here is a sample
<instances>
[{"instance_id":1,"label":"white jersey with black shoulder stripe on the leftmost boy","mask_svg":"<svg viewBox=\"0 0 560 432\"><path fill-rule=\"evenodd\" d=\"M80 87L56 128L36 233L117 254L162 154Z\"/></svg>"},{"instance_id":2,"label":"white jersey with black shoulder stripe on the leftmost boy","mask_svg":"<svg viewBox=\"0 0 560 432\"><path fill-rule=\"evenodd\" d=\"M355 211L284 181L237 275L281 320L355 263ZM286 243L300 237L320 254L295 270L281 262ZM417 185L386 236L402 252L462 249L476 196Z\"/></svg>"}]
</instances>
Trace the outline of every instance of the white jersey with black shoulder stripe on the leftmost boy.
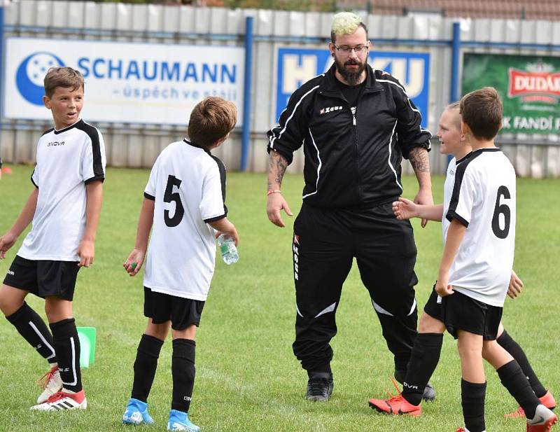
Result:
<instances>
[{"instance_id":1,"label":"white jersey with black shoulder stripe on the leftmost boy","mask_svg":"<svg viewBox=\"0 0 560 432\"><path fill-rule=\"evenodd\" d=\"M79 261L85 230L85 185L105 179L101 132L83 120L51 129L37 143L31 181L38 188L33 226L18 255L28 260Z\"/></svg>"}]
</instances>

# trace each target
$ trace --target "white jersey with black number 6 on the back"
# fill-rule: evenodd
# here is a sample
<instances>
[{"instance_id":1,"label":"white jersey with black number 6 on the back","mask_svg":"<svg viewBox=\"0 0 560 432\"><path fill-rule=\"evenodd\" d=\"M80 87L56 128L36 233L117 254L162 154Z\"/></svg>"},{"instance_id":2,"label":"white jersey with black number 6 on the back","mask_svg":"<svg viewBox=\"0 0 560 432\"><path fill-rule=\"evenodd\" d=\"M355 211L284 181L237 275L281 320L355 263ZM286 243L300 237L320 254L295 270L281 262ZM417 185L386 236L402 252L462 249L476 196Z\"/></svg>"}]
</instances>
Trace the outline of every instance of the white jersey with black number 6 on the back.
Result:
<instances>
[{"instance_id":1,"label":"white jersey with black number 6 on the back","mask_svg":"<svg viewBox=\"0 0 560 432\"><path fill-rule=\"evenodd\" d=\"M449 269L455 291L503 307L515 246L515 171L499 148L451 160L444 186L443 239L451 220L467 227Z\"/></svg>"}]
</instances>

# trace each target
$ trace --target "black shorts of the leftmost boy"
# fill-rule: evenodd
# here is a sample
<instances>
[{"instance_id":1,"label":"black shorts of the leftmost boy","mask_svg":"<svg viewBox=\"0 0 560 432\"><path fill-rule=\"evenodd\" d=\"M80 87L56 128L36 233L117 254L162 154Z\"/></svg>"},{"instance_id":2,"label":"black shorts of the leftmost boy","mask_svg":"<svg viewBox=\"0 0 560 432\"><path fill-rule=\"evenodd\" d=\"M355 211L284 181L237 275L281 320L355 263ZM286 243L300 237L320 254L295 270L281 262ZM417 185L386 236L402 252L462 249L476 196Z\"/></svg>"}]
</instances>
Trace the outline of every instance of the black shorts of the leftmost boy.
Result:
<instances>
[{"instance_id":1,"label":"black shorts of the leftmost boy","mask_svg":"<svg viewBox=\"0 0 560 432\"><path fill-rule=\"evenodd\" d=\"M41 298L71 301L79 270L78 261L27 260L16 255L3 283Z\"/></svg>"}]
</instances>

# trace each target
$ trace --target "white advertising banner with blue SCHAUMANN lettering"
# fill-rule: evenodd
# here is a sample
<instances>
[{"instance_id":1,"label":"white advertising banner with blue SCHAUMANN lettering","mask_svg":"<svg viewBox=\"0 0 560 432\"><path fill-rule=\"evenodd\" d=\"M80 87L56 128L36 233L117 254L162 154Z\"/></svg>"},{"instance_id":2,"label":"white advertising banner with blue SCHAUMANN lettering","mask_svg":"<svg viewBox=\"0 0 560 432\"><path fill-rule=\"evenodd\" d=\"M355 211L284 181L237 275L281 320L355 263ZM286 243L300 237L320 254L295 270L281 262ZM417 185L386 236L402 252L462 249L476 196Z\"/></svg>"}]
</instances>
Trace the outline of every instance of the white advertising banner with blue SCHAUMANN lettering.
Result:
<instances>
[{"instance_id":1,"label":"white advertising banner with blue SCHAUMANN lettering","mask_svg":"<svg viewBox=\"0 0 560 432\"><path fill-rule=\"evenodd\" d=\"M244 48L8 38L3 115L50 119L43 78L50 67L85 79L83 118L92 122L186 125L207 96L229 99L243 118Z\"/></svg>"}]
</instances>

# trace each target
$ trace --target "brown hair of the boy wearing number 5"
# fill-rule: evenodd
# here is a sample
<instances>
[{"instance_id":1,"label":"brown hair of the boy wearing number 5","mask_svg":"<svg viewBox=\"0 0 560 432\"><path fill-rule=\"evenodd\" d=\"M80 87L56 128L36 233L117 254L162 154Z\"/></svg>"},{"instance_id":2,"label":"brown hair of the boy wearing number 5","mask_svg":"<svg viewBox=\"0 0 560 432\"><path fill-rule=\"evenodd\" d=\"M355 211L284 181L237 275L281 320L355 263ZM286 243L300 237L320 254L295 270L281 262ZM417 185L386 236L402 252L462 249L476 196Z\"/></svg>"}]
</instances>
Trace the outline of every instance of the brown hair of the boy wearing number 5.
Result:
<instances>
[{"instance_id":1,"label":"brown hair of the boy wearing number 5","mask_svg":"<svg viewBox=\"0 0 560 432\"><path fill-rule=\"evenodd\" d=\"M221 97L207 97L190 113L188 138L196 146L209 148L228 136L237 123L237 108Z\"/></svg>"}]
</instances>

